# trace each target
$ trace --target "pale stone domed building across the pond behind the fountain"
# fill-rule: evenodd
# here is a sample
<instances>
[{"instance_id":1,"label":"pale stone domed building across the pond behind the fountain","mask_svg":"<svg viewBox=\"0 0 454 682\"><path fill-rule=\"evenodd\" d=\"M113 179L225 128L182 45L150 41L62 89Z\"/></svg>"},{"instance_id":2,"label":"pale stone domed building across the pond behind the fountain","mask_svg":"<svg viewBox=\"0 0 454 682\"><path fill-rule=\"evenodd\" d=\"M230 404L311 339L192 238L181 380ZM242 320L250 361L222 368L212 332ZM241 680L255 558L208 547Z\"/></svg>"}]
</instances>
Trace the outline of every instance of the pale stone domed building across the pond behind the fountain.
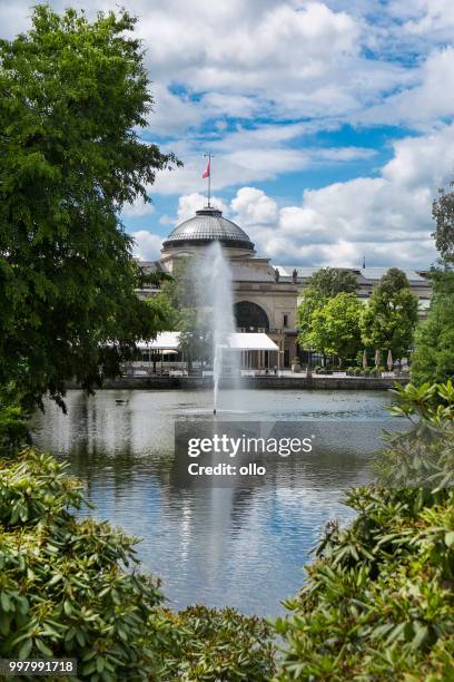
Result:
<instances>
[{"instance_id":1,"label":"pale stone domed building across the pond behind the fountain","mask_svg":"<svg viewBox=\"0 0 454 682\"><path fill-rule=\"evenodd\" d=\"M296 343L298 293L319 267L274 265L270 259L257 256L246 232L226 218L221 211L209 205L175 227L162 243L160 261L144 265L149 271L171 273L178 259L201 255L214 241L220 242L230 262L237 331L265 332L279 347L280 367L290 367L292 358L303 354ZM386 267L347 270L356 275L357 295L362 300L369 298L373 288L387 271ZM424 316L431 284L423 272L405 273L412 290L420 298ZM150 294L149 291L142 293ZM255 354L254 367L265 368L265 352Z\"/></svg>"}]
</instances>

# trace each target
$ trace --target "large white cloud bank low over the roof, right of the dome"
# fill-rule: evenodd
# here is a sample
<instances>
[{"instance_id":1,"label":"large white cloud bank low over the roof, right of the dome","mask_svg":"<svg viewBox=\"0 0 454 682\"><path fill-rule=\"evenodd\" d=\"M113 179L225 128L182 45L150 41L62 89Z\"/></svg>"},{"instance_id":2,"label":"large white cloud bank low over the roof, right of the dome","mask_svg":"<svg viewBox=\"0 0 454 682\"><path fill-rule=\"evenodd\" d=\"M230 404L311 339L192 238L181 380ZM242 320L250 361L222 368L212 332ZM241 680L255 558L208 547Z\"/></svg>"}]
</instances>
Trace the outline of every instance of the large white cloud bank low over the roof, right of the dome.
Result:
<instances>
[{"instance_id":1,"label":"large white cloud bank low over the roof, right of the dome","mask_svg":"<svg viewBox=\"0 0 454 682\"><path fill-rule=\"evenodd\" d=\"M244 187L231 201L234 220L275 262L358 266L365 253L369 265L427 267L435 257L432 201L454 169L454 124L394 149L379 177L306 191L299 206L277 211L264 192Z\"/></svg>"}]
</instances>

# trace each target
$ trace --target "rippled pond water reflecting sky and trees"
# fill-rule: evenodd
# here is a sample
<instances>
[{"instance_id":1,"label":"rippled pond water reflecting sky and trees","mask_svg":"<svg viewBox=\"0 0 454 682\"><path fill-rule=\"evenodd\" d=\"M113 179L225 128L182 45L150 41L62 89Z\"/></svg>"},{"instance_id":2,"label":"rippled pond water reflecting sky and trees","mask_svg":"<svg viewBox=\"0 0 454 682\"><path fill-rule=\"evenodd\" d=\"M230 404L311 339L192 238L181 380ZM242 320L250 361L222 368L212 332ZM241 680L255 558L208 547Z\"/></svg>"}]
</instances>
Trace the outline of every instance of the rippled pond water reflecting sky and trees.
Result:
<instances>
[{"instance_id":1,"label":"rippled pond water reflecting sky and trees","mask_svg":"<svg viewBox=\"0 0 454 682\"><path fill-rule=\"evenodd\" d=\"M210 391L69 391L68 416L48 403L36 416L34 440L87 481L98 518L144 538L144 568L161 576L171 606L276 615L300 587L325 523L351 518L343 491L368 479L363 446L339 448L339 435L357 435L353 421L386 419L386 400L379 392L223 391L223 420L338 421L318 459L284 466L273 458L264 485L250 489L178 486L175 421L206 419Z\"/></svg>"}]
</instances>

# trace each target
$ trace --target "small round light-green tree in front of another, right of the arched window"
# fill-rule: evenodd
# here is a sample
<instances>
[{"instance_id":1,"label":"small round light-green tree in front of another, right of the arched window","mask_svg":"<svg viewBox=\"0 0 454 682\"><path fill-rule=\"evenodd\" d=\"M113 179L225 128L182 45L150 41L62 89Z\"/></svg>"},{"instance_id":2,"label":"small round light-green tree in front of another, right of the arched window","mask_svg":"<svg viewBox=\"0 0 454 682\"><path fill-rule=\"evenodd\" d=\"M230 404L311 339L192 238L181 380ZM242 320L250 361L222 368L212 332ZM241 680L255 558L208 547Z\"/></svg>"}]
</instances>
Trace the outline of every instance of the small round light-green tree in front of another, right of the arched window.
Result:
<instances>
[{"instance_id":1,"label":"small round light-green tree in front of another, right of the arched window","mask_svg":"<svg viewBox=\"0 0 454 682\"><path fill-rule=\"evenodd\" d=\"M361 349L359 318L363 304L354 293L339 293L317 309L312 318L309 345L340 362L355 358Z\"/></svg>"}]
</instances>

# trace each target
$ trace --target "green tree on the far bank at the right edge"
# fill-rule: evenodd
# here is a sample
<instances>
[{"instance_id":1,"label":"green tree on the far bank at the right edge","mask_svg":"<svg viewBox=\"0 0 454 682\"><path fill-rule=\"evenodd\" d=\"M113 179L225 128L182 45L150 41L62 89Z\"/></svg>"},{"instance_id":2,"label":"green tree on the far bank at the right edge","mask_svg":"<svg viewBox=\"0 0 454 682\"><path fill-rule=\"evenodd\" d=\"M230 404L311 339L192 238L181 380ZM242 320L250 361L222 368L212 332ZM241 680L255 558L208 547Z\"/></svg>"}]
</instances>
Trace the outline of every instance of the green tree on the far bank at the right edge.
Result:
<instances>
[{"instance_id":1,"label":"green tree on the far bank at the right edge","mask_svg":"<svg viewBox=\"0 0 454 682\"><path fill-rule=\"evenodd\" d=\"M432 272L433 296L427 320L416 331L412 381L446 381L454 377L454 272Z\"/></svg>"}]
</instances>

